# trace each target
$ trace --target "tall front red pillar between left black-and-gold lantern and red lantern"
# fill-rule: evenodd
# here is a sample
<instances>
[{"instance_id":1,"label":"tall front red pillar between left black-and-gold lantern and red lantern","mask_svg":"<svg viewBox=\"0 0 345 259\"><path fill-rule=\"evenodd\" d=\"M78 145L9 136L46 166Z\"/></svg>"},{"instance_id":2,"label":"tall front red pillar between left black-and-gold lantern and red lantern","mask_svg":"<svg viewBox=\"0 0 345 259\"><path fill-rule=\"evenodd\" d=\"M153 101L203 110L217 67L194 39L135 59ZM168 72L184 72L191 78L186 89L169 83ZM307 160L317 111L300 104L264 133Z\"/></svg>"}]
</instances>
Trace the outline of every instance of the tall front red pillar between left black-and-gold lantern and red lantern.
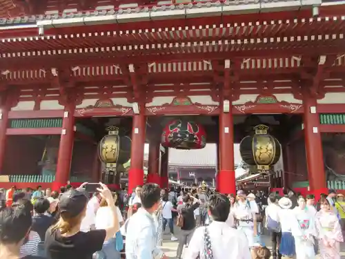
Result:
<instances>
[{"instance_id":1,"label":"tall front red pillar between left black-and-gold lantern and red lantern","mask_svg":"<svg viewBox=\"0 0 345 259\"><path fill-rule=\"evenodd\" d=\"M140 109L144 112L144 108ZM133 115L132 148L130 148L130 170L128 172L128 192L144 184L144 145L146 118L144 114Z\"/></svg>"}]
</instances>

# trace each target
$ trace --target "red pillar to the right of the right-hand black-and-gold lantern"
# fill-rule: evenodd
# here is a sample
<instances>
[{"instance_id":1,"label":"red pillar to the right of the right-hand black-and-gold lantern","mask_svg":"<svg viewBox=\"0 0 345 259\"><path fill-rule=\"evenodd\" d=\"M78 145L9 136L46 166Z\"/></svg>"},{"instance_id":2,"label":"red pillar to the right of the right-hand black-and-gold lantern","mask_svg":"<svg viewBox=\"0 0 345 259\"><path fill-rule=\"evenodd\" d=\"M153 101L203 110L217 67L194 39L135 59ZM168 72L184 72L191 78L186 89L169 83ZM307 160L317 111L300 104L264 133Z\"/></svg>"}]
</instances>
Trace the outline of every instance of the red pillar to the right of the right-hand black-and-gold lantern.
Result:
<instances>
[{"instance_id":1,"label":"red pillar to the right of the right-hand black-and-gold lantern","mask_svg":"<svg viewBox=\"0 0 345 259\"><path fill-rule=\"evenodd\" d=\"M316 111L316 99L304 95L304 139L306 144L306 162L310 190L325 192L326 175L324 171L324 156L322 140L319 132L319 114Z\"/></svg>"}]
</instances>

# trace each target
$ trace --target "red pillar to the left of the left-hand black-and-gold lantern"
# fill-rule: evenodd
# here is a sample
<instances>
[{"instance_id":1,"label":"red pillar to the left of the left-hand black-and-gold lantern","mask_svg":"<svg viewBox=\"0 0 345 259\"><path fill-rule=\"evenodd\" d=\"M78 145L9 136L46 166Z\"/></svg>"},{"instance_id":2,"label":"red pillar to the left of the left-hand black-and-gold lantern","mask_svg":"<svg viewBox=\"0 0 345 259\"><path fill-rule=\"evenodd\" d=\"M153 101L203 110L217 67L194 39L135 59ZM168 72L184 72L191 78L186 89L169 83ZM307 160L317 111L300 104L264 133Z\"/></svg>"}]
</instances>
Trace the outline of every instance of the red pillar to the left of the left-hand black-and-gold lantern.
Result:
<instances>
[{"instance_id":1,"label":"red pillar to the left of the left-hand black-and-gold lantern","mask_svg":"<svg viewBox=\"0 0 345 259\"><path fill-rule=\"evenodd\" d=\"M70 178L73 144L75 142L75 104L66 104L62 119L62 131L57 157L57 173L52 189L58 191Z\"/></svg>"}]
</instances>

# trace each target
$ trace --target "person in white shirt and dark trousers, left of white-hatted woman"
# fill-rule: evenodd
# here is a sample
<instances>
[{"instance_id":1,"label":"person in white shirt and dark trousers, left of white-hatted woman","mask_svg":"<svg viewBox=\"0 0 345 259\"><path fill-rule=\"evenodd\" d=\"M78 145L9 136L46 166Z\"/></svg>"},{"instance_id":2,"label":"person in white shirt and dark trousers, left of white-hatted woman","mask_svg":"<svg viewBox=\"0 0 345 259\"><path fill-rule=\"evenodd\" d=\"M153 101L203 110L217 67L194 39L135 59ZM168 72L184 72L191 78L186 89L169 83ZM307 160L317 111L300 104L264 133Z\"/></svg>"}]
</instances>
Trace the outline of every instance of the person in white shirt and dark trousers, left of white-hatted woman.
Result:
<instances>
[{"instance_id":1,"label":"person in white shirt and dark trousers, left of white-hatted woman","mask_svg":"<svg viewBox=\"0 0 345 259\"><path fill-rule=\"evenodd\" d=\"M277 223L276 225L279 225L279 211L281 208L277 204L277 195L275 193L270 193L268 196L268 206L265 209L265 214L266 214L266 228L267 228L267 222L273 222ZM282 258L282 256L279 254L279 244L280 241L282 240L282 229L277 229L277 231L273 231L272 229L270 230L270 238L272 241L272 256L273 258Z\"/></svg>"}]
</instances>

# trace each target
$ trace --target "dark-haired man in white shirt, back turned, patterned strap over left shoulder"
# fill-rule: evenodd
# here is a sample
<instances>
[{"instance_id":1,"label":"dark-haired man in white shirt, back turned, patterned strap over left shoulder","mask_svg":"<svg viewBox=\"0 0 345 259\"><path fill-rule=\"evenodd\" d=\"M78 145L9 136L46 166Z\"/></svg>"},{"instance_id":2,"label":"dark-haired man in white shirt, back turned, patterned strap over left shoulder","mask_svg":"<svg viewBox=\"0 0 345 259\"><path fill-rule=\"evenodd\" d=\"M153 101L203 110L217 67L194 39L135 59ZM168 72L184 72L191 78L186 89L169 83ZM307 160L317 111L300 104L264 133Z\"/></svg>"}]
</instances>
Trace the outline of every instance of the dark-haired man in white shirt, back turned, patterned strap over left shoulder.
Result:
<instances>
[{"instance_id":1,"label":"dark-haired man in white shirt, back turned, patterned strap over left shoulder","mask_svg":"<svg viewBox=\"0 0 345 259\"><path fill-rule=\"evenodd\" d=\"M208 199L208 207L213 222L208 227L195 229L184 259L205 259L205 238L210 240L208 253L213 259L250 259L248 240L242 231L229 227L226 223L230 212L230 201L225 195L215 194Z\"/></svg>"}]
</instances>

